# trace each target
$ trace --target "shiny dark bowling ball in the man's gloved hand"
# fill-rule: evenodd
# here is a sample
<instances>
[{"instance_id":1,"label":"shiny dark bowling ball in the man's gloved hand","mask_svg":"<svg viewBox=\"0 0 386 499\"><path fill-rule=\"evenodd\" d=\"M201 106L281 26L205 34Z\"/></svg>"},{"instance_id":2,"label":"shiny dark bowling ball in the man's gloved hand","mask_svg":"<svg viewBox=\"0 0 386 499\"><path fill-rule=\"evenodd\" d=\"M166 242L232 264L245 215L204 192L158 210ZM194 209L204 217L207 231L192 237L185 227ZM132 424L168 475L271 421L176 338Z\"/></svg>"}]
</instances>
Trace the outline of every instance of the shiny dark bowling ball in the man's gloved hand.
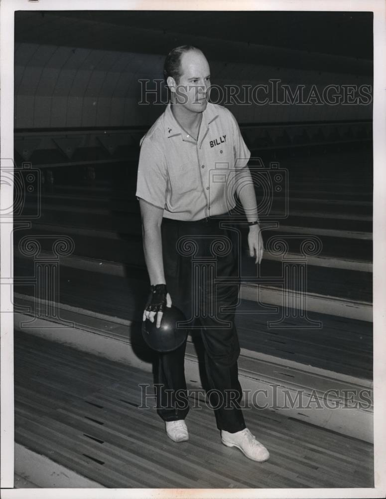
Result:
<instances>
[{"instance_id":1,"label":"shiny dark bowling ball in the man's gloved hand","mask_svg":"<svg viewBox=\"0 0 386 499\"><path fill-rule=\"evenodd\" d=\"M179 321L186 321L183 312L172 305L165 307L162 315L161 325L156 327L157 315L154 322L149 319L142 321L142 336L147 345L157 352L172 352L185 341L188 330L177 327Z\"/></svg>"}]
</instances>

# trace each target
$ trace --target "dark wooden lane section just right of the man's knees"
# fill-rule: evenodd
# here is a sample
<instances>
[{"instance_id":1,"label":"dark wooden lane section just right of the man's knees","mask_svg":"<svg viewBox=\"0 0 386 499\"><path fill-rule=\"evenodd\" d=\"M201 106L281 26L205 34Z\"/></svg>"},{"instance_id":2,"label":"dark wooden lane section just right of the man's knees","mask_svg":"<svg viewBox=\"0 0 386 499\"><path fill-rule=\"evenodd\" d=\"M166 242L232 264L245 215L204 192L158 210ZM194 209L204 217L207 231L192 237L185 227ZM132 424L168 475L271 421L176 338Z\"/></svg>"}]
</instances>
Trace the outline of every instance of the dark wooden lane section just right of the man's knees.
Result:
<instances>
[{"instance_id":1,"label":"dark wooden lane section just right of the man's knees","mask_svg":"<svg viewBox=\"0 0 386 499\"><path fill-rule=\"evenodd\" d=\"M322 322L321 329L296 328L298 321L293 318L284 321L291 326L288 329L268 328L267 322L272 320L269 313L250 313L248 321L241 315L243 310L254 309L246 301L236 318L242 348L331 372L373 378L373 336L369 323L308 312L309 319Z\"/></svg>"}]
</instances>

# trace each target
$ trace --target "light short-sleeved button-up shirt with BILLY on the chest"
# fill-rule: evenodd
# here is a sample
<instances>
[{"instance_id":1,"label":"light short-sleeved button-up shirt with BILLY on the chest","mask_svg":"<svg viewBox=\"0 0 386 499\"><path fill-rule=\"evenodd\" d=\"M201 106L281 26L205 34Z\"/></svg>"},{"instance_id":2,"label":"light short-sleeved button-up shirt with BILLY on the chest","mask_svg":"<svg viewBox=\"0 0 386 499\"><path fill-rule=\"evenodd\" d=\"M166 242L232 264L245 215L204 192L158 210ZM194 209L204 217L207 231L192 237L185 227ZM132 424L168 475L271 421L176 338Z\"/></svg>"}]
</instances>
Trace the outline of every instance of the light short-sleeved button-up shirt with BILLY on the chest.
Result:
<instances>
[{"instance_id":1,"label":"light short-sleeved button-up shirt with BILLY on the chest","mask_svg":"<svg viewBox=\"0 0 386 499\"><path fill-rule=\"evenodd\" d=\"M233 114L208 103L197 141L180 127L170 103L141 139L136 198L163 217L201 220L236 206L235 175L251 153Z\"/></svg>"}]
</instances>

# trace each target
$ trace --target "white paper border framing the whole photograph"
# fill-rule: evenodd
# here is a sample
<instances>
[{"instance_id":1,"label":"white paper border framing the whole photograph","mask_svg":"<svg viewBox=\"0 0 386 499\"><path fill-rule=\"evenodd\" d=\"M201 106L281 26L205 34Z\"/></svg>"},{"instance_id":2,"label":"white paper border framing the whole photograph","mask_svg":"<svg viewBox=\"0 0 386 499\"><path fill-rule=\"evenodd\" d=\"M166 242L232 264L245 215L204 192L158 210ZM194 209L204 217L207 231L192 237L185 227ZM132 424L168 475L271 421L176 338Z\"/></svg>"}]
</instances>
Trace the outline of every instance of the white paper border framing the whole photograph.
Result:
<instances>
[{"instance_id":1,"label":"white paper border framing the whole photograph","mask_svg":"<svg viewBox=\"0 0 386 499\"><path fill-rule=\"evenodd\" d=\"M1 497L7 498L380 498L386 497L386 1L385 0L0 0L0 158L13 158L15 10L308 10L374 12L374 466L369 489L13 489L13 307L10 286L1 304ZM361 33L358 33L360 36ZM1 160L1 168L4 160ZM1 178L0 209L13 189ZM11 223L0 220L1 278L13 273Z\"/></svg>"}]
</instances>

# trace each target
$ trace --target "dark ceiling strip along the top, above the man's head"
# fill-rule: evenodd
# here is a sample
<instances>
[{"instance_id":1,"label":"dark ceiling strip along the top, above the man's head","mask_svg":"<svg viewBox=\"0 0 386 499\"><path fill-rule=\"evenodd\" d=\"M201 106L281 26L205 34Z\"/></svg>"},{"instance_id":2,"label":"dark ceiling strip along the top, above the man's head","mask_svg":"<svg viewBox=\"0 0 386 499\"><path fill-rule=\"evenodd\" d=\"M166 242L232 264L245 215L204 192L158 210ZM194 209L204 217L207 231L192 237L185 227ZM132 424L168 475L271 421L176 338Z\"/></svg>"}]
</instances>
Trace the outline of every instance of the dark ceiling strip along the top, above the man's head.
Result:
<instances>
[{"instance_id":1,"label":"dark ceiling strip along the top, above the man's head","mask_svg":"<svg viewBox=\"0 0 386 499\"><path fill-rule=\"evenodd\" d=\"M17 11L15 41L165 54L199 38L237 44L230 60L257 46L372 60L372 22L372 12Z\"/></svg>"}]
</instances>

